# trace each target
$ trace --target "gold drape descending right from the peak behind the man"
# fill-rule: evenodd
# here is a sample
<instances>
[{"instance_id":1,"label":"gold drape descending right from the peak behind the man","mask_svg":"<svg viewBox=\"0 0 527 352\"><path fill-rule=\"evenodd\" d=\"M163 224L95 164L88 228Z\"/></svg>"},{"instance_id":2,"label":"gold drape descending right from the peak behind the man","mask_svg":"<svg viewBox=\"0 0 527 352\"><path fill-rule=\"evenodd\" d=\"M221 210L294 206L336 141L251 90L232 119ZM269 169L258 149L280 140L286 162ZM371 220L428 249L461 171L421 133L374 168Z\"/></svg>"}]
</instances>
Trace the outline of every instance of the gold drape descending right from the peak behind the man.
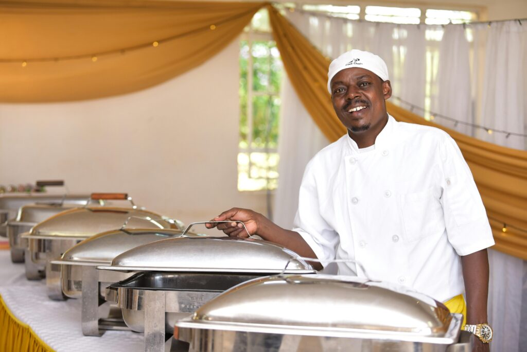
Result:
<instances>
[{"instance_id":1,"label":"gold drape descending right from the peak behind the man","mask_svg":"<svg viewBox=\"0 0 527 352\"><path fill-rule=\"evenodd\" d=\"M272 6L269 18L275 40L292 85L329 141L346 133L327 91L325 58ZM386 102L397 121L434 126L449 133L460 147L480 190L496 245L494 249L527 259L527 152L477 140L424 120L402 107ZM503 226L506 225L506 232Z\"/></svg>"}]
</instances>

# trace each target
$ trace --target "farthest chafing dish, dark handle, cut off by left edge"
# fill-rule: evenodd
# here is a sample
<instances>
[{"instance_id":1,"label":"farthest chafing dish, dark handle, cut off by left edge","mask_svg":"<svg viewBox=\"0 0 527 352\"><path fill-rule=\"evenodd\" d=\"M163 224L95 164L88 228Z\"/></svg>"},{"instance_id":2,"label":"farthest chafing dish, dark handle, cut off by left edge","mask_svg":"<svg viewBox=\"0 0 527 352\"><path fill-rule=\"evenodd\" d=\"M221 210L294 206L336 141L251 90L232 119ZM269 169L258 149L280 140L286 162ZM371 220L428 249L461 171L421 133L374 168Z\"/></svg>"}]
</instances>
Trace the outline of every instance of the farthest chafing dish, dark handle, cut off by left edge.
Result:
<instances>
[{"instance_id":1,"label":"farthest chafing dish, dark handle, cut off by left edge","mask_svg":"<svg viewBox=\"0 0 527 352\"><path fill-rule=\"evenodd\" d=\"M64 181L37 181L38 187L63 186ZM0 193L0 236L7 236L7 221L16 217L26 204L86 204L89 194Z\"/></svg>"}]
</instances>

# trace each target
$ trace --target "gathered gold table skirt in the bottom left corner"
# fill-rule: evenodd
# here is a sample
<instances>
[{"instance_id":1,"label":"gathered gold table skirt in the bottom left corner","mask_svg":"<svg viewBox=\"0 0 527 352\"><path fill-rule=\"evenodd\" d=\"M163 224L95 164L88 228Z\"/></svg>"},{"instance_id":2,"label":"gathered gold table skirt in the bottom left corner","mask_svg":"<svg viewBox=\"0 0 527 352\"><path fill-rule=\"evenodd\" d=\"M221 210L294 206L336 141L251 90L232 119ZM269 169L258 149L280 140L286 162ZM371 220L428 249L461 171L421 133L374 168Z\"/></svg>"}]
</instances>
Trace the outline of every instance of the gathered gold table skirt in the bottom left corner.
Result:
<instances>
[{"instance_id":1,"label":"gathered gold table skirt in the bottom left corner","mask_svg":"<svg viewBox=\"0 0 527 352\"><path fill-rule=\"evenodd\" d=\"M0 296L0 351L53 352L33 330L18 320Z\"/></svg>"}]
</instances>

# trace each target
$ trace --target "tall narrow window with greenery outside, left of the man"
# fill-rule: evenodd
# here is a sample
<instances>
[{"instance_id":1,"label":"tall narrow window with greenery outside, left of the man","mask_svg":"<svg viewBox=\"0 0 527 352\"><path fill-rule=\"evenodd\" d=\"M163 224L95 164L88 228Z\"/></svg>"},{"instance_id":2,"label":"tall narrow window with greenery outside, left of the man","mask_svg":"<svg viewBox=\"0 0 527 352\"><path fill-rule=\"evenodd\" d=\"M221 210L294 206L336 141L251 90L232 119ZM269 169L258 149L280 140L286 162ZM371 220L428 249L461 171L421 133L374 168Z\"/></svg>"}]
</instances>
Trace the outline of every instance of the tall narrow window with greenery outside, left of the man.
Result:
<instances>
[{"instance_id":1,"label":"tall narrow window with greenery outside, left of the man","mask_svg":"<svg viewBox=\"0 0 527 352\"><path fill-rule=\"evenodd\" d=\"M264 9L253 17L240 43L239 191L277 187L283 71Z\"/></svg>"}]
</instances>

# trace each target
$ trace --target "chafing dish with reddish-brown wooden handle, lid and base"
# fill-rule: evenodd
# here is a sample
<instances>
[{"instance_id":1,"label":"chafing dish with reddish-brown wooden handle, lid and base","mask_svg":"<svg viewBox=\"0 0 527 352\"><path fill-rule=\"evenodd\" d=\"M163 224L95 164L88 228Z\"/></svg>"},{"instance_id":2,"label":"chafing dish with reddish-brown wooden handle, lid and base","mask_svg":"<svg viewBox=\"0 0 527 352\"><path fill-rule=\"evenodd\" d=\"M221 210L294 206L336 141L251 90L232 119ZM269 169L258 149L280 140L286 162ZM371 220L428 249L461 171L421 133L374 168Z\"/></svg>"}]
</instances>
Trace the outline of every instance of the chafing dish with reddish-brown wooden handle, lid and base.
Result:
<instances>
[{"instance_id":1,"label":"chafing dish with reddish-brown wooden handle, lid and base","mask_svg":"<svg viewBox=\"0 0 527 352\"><path fill-rule=\"evenodd\" d=\"M91 199L131 200L125 193L93 193ZM49 274L48 292L55 287L58 297L62 295L60 271L47 265L50 260L59 258L66 250L86 238L120 228L127 220L131 228L177 228L177 224L171 219L155 220L160 218L162 217L157 213L138 209L135 206L132 208L85 206L58 213L38 223L30 232L22 234L21 237L27 240L28 245L25 252L26 277L41 279Z\"/></svg>"}]
</instances>

